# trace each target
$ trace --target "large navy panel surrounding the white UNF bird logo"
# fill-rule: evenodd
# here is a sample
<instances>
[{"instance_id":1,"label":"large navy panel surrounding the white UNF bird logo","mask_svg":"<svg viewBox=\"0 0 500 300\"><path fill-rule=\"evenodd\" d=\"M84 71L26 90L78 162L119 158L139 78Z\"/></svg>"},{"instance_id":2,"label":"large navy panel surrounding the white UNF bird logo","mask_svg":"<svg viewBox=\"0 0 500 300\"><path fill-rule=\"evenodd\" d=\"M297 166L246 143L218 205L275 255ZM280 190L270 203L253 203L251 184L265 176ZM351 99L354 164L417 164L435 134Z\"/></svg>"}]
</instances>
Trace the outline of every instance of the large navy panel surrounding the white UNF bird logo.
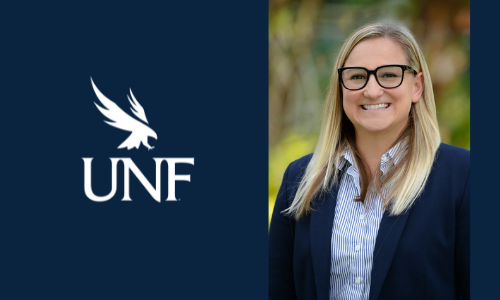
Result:
<instances>
[{"instance_id":1,"label":"large navy panel surrounding the white UNF bird logo","mask_svg":"<svg viewBox=\"0 0 500 300\"><path fill-rule=\"evenodd\" d=\"M168 3L168 4L167 4ZM2 282L6 299L267 298L267 2L22 4L2 9ZM130 113L129 88L158 140L118 150L97 87ZM153 157L178 165L162 203L131 175L122 202L110 157L155 184Z\"/></svg>"}]
</instances>

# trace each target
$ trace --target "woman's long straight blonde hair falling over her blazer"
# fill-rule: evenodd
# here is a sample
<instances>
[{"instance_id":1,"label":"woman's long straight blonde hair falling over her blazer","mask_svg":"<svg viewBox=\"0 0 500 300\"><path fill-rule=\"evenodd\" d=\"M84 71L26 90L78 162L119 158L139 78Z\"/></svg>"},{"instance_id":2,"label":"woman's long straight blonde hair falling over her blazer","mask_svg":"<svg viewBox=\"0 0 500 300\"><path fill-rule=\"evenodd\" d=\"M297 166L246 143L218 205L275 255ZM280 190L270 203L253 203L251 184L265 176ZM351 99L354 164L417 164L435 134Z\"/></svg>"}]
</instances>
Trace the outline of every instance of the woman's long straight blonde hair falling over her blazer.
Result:
<instances>
[{"instance_id":1,"label":"woman's long straight blonde hair falling over her blazer","mask_svg":"<svg viewBox=\"0 0 500 300\"><path fill-rule=\"evenodd\" d=\"M394 143L396 145L402 142L404 145L394 155L401 158L397 167L385 175L377 170L371 184L368 185L370 180L356 147L354 126L342 107L342 88L337 69L344 65L354 46L372 38L388 38L401 45L408 64L417 72L423 73L424 89L420 100L412 104L406 129ZM364 201L365 198L369 198L367 196L370 193L378 193L390 215L399 215L410 208L422 193L440 142L429 69L415 37L404 25L394 22L365 25L354 31L340 49L330 79L316 150L291 206L284 213L299 219L313 210L311 206L313 199L321 193L328 192L339 180L338 166L347 147L353 154L361 175L361 195L356 200ZM388 191L385 197L382 188Z\"/></svg>"}]
</instances>

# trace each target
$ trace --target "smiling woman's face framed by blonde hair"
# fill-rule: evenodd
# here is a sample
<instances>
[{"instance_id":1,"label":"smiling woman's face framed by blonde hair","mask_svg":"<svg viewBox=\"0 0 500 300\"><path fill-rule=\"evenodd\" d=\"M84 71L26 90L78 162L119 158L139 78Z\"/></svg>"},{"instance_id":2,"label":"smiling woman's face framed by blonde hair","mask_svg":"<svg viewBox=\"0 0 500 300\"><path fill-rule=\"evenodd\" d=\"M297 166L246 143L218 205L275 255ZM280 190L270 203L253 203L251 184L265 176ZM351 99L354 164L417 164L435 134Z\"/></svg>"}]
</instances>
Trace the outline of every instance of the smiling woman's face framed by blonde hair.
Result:
<instances>
[{"instance_id":1,"label":"smiling woman's face framed by blonde hair","mask_svg":"<svg viewBox=\"0 0 500 300\"><path fill-rule=\"evenodd\" d=\"M408 61L398 43L387 38L374 38L357 44L344 67L374 70L383 65L408 65ZM406 127L411 104L422 95L422 72L413 75L411 71L405 71L403 83L397 88L381 87L371 74L364 88L347 90L342 86L342 89L344 111L354 125L356 135L388 133L397 137ZM379 104L388 106L375 106Z\"/></svg>"}]
</instances>

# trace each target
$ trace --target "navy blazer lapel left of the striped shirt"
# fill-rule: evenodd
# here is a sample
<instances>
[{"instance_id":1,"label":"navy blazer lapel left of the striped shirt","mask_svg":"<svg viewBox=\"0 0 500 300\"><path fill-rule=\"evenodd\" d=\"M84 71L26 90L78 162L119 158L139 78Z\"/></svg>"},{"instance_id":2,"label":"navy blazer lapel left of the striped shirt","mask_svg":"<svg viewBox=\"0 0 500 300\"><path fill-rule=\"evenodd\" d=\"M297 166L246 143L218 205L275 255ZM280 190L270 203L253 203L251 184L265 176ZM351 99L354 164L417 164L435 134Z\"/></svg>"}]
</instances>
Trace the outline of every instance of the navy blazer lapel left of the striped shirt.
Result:
<instances>
[{"instance_id":1,"label":"navy blazer lapel left of the striped shirt","mask_svg":"<svg viewBox=\"0 0 500 300\"><path fill-rule=\"evenodd\" d=\"M332 261L332 226L339 185L334 184L330 193L315 200L311 213L311 254L318 300L330 297L330 265Z\"/></svg>"}]
</instances>

